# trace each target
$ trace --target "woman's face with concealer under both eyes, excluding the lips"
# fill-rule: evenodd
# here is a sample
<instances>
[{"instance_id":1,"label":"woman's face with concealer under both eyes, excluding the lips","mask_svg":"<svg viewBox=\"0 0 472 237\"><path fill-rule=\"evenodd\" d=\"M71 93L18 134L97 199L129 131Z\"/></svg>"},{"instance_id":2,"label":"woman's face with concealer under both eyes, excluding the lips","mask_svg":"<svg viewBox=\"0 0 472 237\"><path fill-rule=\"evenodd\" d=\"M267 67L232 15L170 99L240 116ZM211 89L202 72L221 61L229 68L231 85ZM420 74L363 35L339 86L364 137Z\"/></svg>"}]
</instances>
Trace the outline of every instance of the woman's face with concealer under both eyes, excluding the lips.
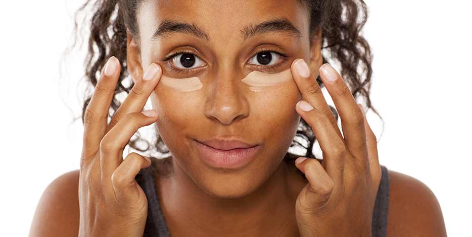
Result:
<instances>
[{"instance_id":1,"label":"woman's face with concealer under both eyes, excluding the lips","mask_svg":"<svg viewBox=\"0 0 472 237\"><path fill-rule=\"evenodd\" d=\"M156 63L163 70L151 100L174 165L215 197L256 190L280 165L300 122L291 64L320 55L310 54L306 7L295 0L147 1L137 24L140 65L128 69ZM201 159L195 142L212 138L260 147L247 165L218 168Z\"/></svg>"}]
</instances>

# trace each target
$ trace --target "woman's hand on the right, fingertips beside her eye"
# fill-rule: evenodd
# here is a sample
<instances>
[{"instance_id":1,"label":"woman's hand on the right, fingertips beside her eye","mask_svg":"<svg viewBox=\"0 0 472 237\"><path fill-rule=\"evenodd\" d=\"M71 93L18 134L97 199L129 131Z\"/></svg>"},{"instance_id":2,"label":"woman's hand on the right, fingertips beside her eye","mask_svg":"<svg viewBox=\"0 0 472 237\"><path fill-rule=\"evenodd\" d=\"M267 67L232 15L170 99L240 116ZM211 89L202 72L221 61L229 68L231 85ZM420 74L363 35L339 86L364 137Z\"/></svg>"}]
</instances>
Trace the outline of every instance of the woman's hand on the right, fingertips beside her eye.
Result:
<instances>
[{"instance_id":1,"label":"woman's hand on the right, fingertips beside her eye","mask_svg":"<svg viewBox=\"0 0 472 237\"><path fill-rule=\"evenodd\" d=\"M309 182L296 201L300 236L372 236L382 174L376 138L340 74L329 64L319 71L341 117L344 137L308 66L303 60L294 61L292 74L303 97L296 110L312 128L323 152L322 162L306 157L296 160Z\"/></svg>"}]
</instances>

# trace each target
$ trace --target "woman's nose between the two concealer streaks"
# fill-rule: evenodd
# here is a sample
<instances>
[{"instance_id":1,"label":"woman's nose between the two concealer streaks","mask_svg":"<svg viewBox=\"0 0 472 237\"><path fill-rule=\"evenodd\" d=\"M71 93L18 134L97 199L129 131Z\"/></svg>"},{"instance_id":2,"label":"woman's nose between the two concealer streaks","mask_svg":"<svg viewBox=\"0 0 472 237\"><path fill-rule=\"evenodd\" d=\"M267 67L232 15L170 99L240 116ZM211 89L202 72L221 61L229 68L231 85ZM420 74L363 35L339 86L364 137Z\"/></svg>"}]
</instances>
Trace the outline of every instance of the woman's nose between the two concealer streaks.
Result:
<instances>
[{"instance_id":1,"label":"woman's nose between the two concealer streaks","mask_svg":"<svg viewBox=\"0 0 472 237\"><path fill-rule=\"evenodd\" d=\"M218 70L208 80L205 104L207 117L229 125L249 115L249 104L242 90L241 76L233 69Z\"/></svg>"}]
</instances>

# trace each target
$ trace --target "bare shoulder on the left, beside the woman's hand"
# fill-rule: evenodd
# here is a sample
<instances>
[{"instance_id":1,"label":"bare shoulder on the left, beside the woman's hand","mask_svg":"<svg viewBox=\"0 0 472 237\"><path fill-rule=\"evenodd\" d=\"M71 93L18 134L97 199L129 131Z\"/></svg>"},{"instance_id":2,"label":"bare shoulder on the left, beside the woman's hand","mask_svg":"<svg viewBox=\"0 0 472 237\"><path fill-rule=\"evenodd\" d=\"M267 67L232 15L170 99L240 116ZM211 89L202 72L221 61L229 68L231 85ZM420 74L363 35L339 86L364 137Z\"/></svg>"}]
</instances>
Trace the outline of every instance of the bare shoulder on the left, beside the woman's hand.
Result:
<instances>
[{"instance_id":1,"label":"bare shoulder on the left, beside the woman's hand","mask_svg":"<svg viewBox=\"0 0 472 237\"><path fill-rule=\"evenodd\" d=\"M34 213L30 237L77 236L79 170L57 177L44 190Z\"/></svg>"}]
</instances>

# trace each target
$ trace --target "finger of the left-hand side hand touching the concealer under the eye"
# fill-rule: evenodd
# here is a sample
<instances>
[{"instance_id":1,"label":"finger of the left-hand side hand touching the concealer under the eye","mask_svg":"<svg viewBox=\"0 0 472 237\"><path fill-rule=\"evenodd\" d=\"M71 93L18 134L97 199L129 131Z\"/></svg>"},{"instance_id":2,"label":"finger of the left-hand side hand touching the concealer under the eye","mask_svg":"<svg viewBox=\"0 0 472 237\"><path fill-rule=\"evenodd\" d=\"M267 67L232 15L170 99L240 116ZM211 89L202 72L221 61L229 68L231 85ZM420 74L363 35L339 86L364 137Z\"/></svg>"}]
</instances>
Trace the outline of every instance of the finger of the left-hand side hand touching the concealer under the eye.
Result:
<instances>
[{"instance_id":1,"label":"finger of the left-hand side hand touching the concealer under the eye","mask_svg":"<svg viewBox=\"0 0 472 237\"><path fill-rule=\"evenodd\" d=\"M149 96L159 83L162 75L161 67L152 63L146 72L141 76L131 91L126 96L121 106L116 110L112 117L107 133L110 131L126 114L141 111L148 101Z\"/></svg>"}]
</instances>

